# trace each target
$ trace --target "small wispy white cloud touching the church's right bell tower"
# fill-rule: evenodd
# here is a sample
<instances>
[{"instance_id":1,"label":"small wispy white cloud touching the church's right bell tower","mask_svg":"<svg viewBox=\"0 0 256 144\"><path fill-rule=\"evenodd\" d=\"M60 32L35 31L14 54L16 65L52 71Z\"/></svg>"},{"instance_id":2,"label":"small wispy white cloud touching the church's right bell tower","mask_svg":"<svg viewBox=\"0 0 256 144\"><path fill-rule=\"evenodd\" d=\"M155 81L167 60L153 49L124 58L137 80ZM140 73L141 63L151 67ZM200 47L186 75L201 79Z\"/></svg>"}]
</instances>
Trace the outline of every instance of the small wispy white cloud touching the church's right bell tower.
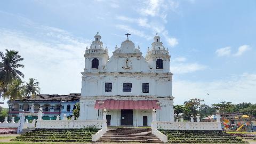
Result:
<instances>
[{"instance_id":1,"label":"small wispy white cloud touching the church's right bell tower","mask_svg":"<svg viewBox=\"0 0 256 144\"><path fill-rule=\"evenodd\" d=\"M170 71L173 74L193 73L198 70L204 70L207 66L198 63L171 63Z\"/></svg>"}]
</instances>

